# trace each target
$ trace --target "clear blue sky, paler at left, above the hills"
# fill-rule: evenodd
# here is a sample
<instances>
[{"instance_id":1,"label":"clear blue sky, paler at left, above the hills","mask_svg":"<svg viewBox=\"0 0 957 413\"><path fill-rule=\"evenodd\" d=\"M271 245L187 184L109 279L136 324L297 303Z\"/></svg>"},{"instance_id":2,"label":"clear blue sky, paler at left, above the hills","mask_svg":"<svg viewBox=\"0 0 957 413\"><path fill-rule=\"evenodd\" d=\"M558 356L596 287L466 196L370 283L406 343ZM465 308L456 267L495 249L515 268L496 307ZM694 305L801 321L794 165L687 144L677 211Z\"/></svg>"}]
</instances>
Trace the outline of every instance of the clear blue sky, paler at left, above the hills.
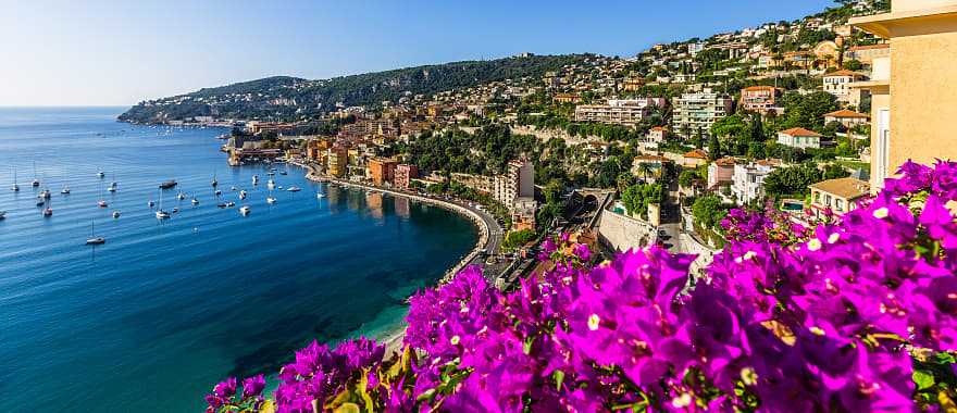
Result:
<instances>
[{"instance_id":1,"label":"clear blue sky, paler at left, above the hills","mask_svg":"<svg viewBox=\"0 0 957 413\"><path fill-rule=\"evenodd\" d=\"M831 0L0 0L0 105L130 105L533 52L634 55L794 20Z\"/></svg>"}]
</instances>

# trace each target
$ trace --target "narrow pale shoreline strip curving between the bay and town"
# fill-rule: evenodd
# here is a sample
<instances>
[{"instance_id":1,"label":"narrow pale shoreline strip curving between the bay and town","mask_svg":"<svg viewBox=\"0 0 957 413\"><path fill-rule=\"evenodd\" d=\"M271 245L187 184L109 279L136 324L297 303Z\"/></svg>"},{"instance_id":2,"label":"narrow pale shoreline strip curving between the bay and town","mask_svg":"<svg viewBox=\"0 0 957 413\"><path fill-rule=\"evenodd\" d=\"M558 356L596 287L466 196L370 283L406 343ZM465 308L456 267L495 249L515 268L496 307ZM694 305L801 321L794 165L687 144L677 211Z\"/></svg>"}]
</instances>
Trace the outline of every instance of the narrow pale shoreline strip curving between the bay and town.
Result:
<instances>
[{"instance_id":1,"label":"narrow pale shoreline strip curving between the bay and town","mask_svg":"<svg viewBox=\"0 0 957 413\"><path fill-rule=\"evenodd\" d=\"M290 165L302 167L306 171L308 171L306 174L306 179L311 180L311 182L325 182L325 183L335 184L335 185L338 185L341 187L356 187L356 188L363 188L363 189L368 189L368 190L377 190L377 191L381 191L383 193L388 193L394 197L403 197L403 198L407 198L411 201L436 205L442 209L455 212L455 213L468 218L469 221L471 221L472 224L478 229L478 240L475 242L475 246L472 248L472 250L469 251L468 254L465 254L464 258L462 258L451 268L446 271L445 275L443 275L443 277L439 278L438 284L437 284L438 286L442 286L444 284L451 281L452 278L456 276L456 274L458 274L462 268L464 268L467 265L469 265L469 263L471 263L473 260L475 260L475 258L478 255L478 253L481 253L488 246L488 234L490 230L488 228L488 224L485 222L485 220L483 220L481 216L478 216L478 214L476 214L475 212L473 212L467 208L463 208L457 203L440 200L440 199L430 198L430 197L422 197L422 196L419 196L415 193L408 193L408 192L397 191L394 189L381 188L381 187L376 187L376 186L372 186L372 185L366 185L363 183L353 183L350 180L339 179L339 178L335 178L332 176L325 176L325 175L320 174L315 170L315 166L307 164L307 163L294 161L294 160L287 160L286 163L288 163ZM401 352L402 351L402 339L405 338L405 336L406 336L406 323L405 323L405 320L401 320L401 321L399 321L398 326L396 326L395 328L388 329L388 333L385 333L384 335L382 335L382 337L372 337L372 338L374 338L377 341L380 341L381 343L385 345L386 353L391 353L391 352Z\"/></svg>"}]
</instances>

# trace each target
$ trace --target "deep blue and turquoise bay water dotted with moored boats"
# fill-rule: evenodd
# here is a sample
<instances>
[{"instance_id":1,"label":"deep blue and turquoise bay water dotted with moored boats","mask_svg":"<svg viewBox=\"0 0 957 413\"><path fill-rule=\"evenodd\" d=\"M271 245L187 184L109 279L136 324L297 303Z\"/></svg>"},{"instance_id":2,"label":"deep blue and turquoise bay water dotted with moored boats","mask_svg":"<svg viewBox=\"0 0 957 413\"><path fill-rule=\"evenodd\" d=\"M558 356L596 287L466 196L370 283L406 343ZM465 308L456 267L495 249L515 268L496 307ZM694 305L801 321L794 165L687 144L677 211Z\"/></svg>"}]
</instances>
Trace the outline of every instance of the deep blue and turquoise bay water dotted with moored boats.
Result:
<instances>
[{"instance_id":1,"label":"deep blue and turquoise bay water dotted with moored boats","mask_svg":"<svg viewBox=\"0 0 957 413\"><path fill-rule=\"evenodd\" d=\"M224 130L116 123L121 111L0 109L0 411L200 411L226 375L275 372L313 338L396 325L405 297L477 237L445 210L312 184L294 167L277 185L302 191L274 191L269 205L265 166L228 167L214 139ZM34 162L51 217L36 206ZM214 174L235 208L216 208ZM181 211L159 222L148 201L170 178L179 186L163 206ZM101 196L112 180L119 191ZM105 245L84 245L91 220Z\"/></svg>"}]
</instances>

